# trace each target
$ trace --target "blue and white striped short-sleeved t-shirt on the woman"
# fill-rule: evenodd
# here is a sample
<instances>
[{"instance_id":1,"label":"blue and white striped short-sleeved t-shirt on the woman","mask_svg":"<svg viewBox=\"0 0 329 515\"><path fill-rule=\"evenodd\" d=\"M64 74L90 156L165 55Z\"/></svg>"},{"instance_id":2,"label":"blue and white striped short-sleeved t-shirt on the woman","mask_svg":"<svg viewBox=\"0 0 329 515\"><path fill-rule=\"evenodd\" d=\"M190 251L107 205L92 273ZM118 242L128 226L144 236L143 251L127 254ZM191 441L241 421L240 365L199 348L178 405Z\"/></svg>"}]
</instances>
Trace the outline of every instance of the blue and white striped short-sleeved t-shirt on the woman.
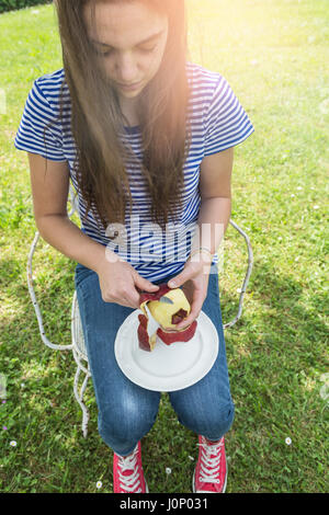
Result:
<instances>
[{"instance_id":1,"label":"blue and white striped short-sleeved t-shirt on the woman","mask_svg":"<svg viewBox=\"0 0 329 515\"><path fill-rule=\"evenodd\" d=\"M188 108L192 133L191 147L184 163L182 209L177 213L175 220L166 226L166 231L150 219L150 199L146 193L141 170L135 160L125 162L134 201L132 216L127 209L125 225L110 225L103 230L91 211L84 220L87 205L75 176L76 147L70 130L70 94L66 83L64 121L57 121L47 128L44 136L45 126L59 115L60 87L65 80L63 68L34 81L14 140L14 146L19 150L37 153L52 161L68 162L71 183L77 191L79 216L81 220L83 219L81 230L116 252L149 281L159 281L178 274L189 258L201 207L198 183L203 158L242 142L254 130L240 102L222 75L189 61L186 75L192 90ZM118 134L118 137L127 138L135 154L139 158L143 156L138 126L125 127L124 134ZM213 264L216 265L217 262L216 253Z\"/></svg>"}]
</instances>

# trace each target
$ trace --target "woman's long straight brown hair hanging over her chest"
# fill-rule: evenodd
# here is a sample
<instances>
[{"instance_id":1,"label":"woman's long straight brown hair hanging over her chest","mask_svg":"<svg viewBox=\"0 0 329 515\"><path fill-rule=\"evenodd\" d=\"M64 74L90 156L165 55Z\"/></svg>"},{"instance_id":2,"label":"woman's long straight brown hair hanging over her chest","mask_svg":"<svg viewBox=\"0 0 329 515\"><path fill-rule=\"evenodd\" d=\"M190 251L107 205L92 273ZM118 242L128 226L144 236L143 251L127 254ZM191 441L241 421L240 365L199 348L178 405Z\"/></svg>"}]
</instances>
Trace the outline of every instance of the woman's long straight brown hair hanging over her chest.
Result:
<instances>
[{"instance_id":1,"label":"woman's long straight brown hair hanging over her chest","mask_svg":"<svg viewBox=\"0 0 329 515\"><path fill-rule=\"evenodd\" d=\"M107 0L109 2L117 0ZM132 1L132 0L123 0ZM134 0L133 0L134 1ZM138 102L143 162L138 161L150 198L151 220L164 228L182 203L183 164L190 149L186 77L188 30L184 0L141 0L168 15L168 42L160 69ZM109 87L89 42L83 9L94 0L54 0L63 48L65 80L70 92L71 131L77 146L78 186L98 224L125 222L133 198L125 158L137 157L124 134L125 117L117 93ZM61 90L63 91L63 90ZM61 110L63 112L63 102Z\"/></svg>"}]
</instances>

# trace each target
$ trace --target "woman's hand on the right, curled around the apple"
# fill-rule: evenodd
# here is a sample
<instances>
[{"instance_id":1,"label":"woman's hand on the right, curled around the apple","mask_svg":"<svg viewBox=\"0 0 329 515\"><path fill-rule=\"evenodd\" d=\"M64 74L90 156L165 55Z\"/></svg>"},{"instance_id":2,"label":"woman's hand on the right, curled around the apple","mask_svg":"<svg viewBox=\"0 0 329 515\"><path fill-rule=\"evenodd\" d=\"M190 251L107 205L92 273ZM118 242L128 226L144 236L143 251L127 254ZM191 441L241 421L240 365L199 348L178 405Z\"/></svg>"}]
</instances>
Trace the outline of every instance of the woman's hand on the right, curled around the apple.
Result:
<instances>
[{"instance_id":1,"label":"woman's hand on the right, curled around the apple","mask_svg":"<svg viewBox=\"0 0 329 515\"><path fill-rule=\"evenodd\" d=\"M182 272L168 282L170 288L181 287L191 305L189 317L175 325L177 330L186 329L198 317L207 296L211 263L204 261L202 255L196 259L197 261L188 260Z\"/></svg>"}]
</instances>

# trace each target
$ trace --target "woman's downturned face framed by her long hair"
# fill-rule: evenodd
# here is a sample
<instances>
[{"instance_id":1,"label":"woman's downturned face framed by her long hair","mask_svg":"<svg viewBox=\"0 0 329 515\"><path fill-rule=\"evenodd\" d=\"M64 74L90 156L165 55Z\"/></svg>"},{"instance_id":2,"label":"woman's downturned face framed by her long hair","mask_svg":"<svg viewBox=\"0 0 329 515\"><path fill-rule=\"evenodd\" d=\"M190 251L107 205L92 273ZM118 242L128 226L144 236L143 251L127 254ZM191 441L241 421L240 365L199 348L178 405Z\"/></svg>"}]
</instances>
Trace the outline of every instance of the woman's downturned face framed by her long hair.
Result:
<instances>
[{"instance_id":1,"label":"woman's downturned face framed by her long hair","mask_svg":"<svg viewBox=\"0 0 329 515\"><path fill-rule=\"evenodd\" d=\"M83 15L97 58L120 98L136 99L160 68L168 37L168 18L139 0L99 1L95 3L94 34L88 4Z\"/></svg>"}]
</instances>

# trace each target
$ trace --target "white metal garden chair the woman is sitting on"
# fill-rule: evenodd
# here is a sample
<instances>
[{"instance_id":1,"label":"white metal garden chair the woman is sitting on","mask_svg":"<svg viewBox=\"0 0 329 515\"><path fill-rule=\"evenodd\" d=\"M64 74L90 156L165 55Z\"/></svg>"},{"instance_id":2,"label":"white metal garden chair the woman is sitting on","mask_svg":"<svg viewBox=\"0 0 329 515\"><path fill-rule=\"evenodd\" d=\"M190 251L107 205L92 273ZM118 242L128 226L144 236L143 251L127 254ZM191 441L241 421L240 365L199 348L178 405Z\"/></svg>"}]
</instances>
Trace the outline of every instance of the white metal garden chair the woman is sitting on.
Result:
<instances>
[{"instance_id":1,"label":"white metal garden chair the woman is sitting on","mask_svg":"<svg viewBox=\"0 0 329 515\"><path fill-rule=\"evenodd\" d=\"M73 215L75 211L78 213L78 206L76 203L76 196L73 193L72 187L70 186L70 204L71 204L71 211L69 213L69 217ZM230 225L238 230L238 232L245 238L247 249L248 249L248 267L247 267L247 273L243 279L242 288L240 289L240 298L239 298L239 307L238 307L238 313L237 316L228 323L224 324L224 329L231 328L241 317L242 314L242 305L243 305L243 296L247 290L247 286L249 283L249 278L251 275L252 271L252 265L253 265L253 254L252 254L252 249L250 244L250 240L248 236L246 234L245 231L240 227L237 226L232 220L229 220ZM37 245L37 242L39 240L39 232L35 232L34 240L31 245L31 250L29 253L29 259L27 259L27 285L29 285L29 291L30 296L34 306L34 310L36 313L36 318L38 321L38 329L41 333L41 337L44 342L45 345L47 345L49 348L53 348L55 351L67 351L71 350L73 354L73 358L77 363L77 371L75 376L75 382L73 382L73 393L75 397L82 410L82 434L84 438L88 435L88 422L89 422L89 411L83 402L83 394L87 388L88 379L91 377L91 373L89 369L89 363L88 363L88 356L87 356L87 351L86 351L86 345L84 345L84 339L83 339L83 332L82 332L82 325L81 325L81 319L80 319L80 312L79 312L79 306L78 306L78 300L77 300L77 291L73 294L72 298L72 305L71 305L71 344L70 345L57 345L52 343L44 331L44 325L43 325L43 317L41 314L41 310L35 297L35 291L34 291L34 286L33 286L33 268L32 268L32 262L33 262L33 255ZM84 378L82 380L82 385L80 386L79 389L79 379L80 375L84 374Z\"/></svg>"}]
</instances>

